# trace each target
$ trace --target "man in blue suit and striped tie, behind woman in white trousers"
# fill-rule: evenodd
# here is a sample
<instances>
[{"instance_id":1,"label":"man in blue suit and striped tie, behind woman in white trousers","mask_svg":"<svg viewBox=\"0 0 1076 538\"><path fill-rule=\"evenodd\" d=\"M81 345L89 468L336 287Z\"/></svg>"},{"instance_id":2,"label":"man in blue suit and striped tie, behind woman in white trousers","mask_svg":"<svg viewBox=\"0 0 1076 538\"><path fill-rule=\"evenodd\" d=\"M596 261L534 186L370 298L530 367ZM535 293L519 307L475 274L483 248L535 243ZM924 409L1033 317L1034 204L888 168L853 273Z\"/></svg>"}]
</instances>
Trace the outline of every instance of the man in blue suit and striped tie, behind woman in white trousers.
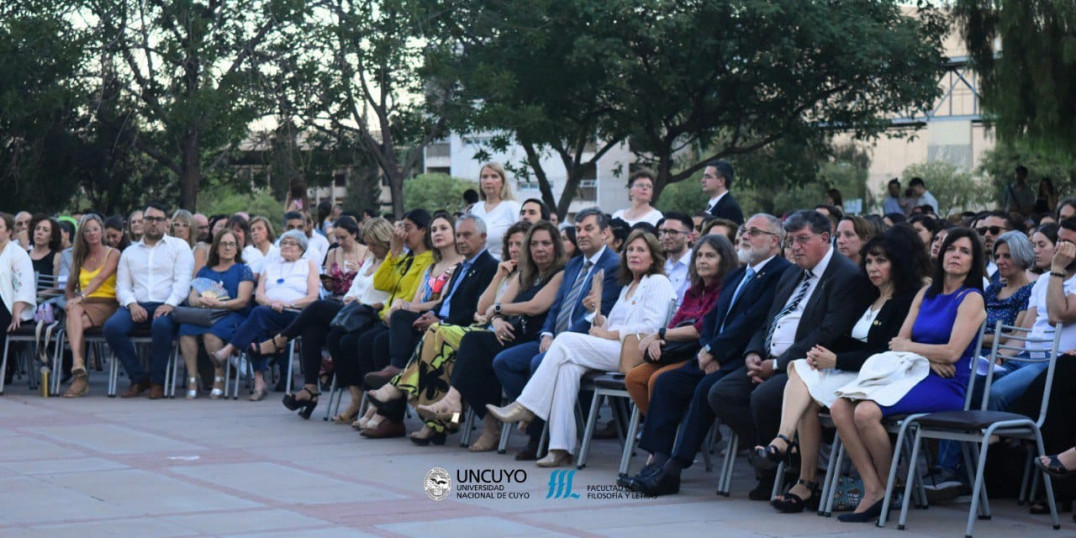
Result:
<instances>
[{"instance_id":1,"label":"man in blue suit and striped tie, behind woman in white trousers","mask_svg":"<svg viewBox=\"0 0 1076 538\"><path fill-rule=\"evenodd\" d=\"M572 258L564 268L564 283L557 289L556 298L546 315L541 340L509 348L493 359L493 369L509 400L514 400L523 392L530 373L538 368L546 356L546 350L552 345L554 336L565 331L590 331L591 322L585 317L583 299L590 295L594 274L598 270L605 270L601 281L601 314L608 315L612 310L620 297L620 284L617 283L620 257L606 246L609 231L609 220L600 209L587 208L576 214L576 241L583 255ZM541 433L538 422L532 423L528 433L534 433L536 428L538 434ZM532 443L520 454L522 458L534 458L536 441L536 436L532 436Z\"/></svg>"}]
</instances>

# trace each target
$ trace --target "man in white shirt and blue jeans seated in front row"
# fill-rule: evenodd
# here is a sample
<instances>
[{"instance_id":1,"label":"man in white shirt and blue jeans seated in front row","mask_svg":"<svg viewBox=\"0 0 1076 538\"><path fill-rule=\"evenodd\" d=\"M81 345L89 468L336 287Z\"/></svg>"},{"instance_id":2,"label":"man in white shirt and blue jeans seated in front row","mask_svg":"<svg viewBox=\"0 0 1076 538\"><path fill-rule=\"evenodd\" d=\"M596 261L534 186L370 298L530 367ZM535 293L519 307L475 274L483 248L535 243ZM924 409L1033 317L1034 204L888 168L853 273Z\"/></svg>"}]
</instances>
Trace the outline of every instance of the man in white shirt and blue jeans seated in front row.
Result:
<instances>
[{"instance_id":1,"label":"man in white shirt and blue jeans seated in front row","mask_svg":"<svg viewBox=\"0 0 1076 538\"><path fill-rule=\"evenodd\" d=\"M175 334L172 309L190 291L195 258L186 241L165 235L164 207L151 203L142 215L142 240L124 251L116 268L119 310L104 323L102 330L131 380L130 388L121 397L140 396L150 390L150 399L157 399L165 395L165 371ZM153 336L148 376L130 341L131 332L146 327Z\"/></svg>"}]
</instances>

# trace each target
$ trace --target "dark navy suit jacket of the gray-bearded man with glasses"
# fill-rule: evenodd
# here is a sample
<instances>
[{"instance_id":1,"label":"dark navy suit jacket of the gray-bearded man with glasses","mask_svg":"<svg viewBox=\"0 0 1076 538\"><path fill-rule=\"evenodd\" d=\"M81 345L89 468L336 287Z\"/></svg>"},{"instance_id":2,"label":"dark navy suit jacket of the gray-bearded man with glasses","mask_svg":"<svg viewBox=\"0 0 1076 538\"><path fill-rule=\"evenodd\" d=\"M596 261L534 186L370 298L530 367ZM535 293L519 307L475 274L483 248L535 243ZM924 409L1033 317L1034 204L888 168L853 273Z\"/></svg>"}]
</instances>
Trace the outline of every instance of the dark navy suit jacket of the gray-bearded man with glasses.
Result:
<instances>
[{"instance_id":1,"label":"dark navy suit jacket of the gray-bearded man with glasses","mask_svg":"<svg viewBox=\"0 0 1076 538\"><path fill-rule=\"evenodd\" d=\"M780 256L770 259L751 282L744 285L735 305L732 305L733 295L747 275L747 268L741 267L725 279L718 302L703 317L699 338L699 344L703 348L709 346L714 360L724 366L744 356L754 328L762 323L769 311L769 303L774 302L778 279L791 265ZM722 324L724 330L720 330Z\"/></svg>"}]
</instances>

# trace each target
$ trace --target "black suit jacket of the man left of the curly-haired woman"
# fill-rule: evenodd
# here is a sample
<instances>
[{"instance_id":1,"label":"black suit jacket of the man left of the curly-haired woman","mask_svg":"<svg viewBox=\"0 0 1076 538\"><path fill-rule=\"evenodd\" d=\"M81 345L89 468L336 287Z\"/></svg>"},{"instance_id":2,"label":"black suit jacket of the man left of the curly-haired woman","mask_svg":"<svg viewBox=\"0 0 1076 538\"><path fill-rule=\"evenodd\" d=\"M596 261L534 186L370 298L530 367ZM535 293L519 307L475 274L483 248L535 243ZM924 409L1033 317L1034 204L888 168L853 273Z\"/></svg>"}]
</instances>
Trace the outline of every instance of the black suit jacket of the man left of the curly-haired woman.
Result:
<instances>
[{"instance_id":1,"label":"black suit jacket of the man left of the curly-haired woman","mask_svg":"<svg viewBox=\"0 0 1076 538\"><path fill-rule=\"evenodd\" d=\"M831 246L833 249L833 246ZM769 331L774 317L792 297L796 284L803 277L804 269L793 265L784 270L777 293L769 307L769 313L756 327L747 353L758 353L763 358L776 358L777 369L785 370L789 363L807 356L807 351L815 345L831 348L844 335L852 331L855 321L863 315L863 310L872 301L874 288L863 271L850 259L834 251L830 265L819 279L818 285L811 292L803 316L796 327L796 341L780 356L770 357L769 350L764 349L766 332Z\"/></svg>"}]
</instances>

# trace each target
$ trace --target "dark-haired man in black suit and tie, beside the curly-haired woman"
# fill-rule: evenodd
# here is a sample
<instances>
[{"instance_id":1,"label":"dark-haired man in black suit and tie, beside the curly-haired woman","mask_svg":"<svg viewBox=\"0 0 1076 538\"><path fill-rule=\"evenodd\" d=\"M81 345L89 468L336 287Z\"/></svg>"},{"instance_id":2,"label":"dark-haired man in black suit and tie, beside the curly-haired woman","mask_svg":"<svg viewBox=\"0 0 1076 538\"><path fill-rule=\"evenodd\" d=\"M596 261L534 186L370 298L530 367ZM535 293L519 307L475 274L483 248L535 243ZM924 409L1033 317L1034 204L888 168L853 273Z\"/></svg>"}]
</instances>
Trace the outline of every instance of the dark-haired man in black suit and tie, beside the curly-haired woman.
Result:
<instances>
[{"instance_id":1,"label":"dark-haired man in black suit and tie, beside the curly-haired woman","mask_svg":"<svg viewBox=\"0 0 1076 538\"><path fill-rule=\"evenodd\" d=\"M794 266L777 284L769 313L747 345L744 366L713 384L710 408L753 447L777 435L789 363L815 345L830 348L851 331L870 301L870 283L830 241L830 220L817 211L797 211L784 222ZM788 447L777 447L781 453ZM806 463L805 465L811 465ZM773 475L759 475L750 498L766 500Z\"/></svg>"}]
</instances>

